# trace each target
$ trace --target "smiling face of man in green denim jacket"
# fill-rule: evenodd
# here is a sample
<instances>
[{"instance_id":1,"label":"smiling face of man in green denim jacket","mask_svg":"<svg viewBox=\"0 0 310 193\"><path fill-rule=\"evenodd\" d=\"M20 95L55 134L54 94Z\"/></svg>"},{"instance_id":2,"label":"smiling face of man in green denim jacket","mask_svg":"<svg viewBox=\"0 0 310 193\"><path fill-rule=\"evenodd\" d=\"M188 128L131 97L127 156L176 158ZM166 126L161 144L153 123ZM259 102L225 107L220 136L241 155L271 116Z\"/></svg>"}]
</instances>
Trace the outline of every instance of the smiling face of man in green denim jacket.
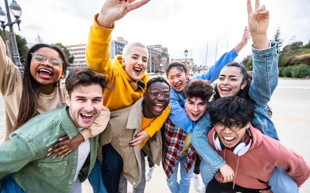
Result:
<instances>
[{"instance_id":1,"label":"smiling face of man in green denim jacket","mask_svg":"<svg viewBox=\"0 0 310 193\"><path fill-rule=\"evenodd\" d=\"M103 106L102 87L99 84L76 86L71 97L65 94L68 114L77 128L89 128Z\"/></svg>"}]
</instances>

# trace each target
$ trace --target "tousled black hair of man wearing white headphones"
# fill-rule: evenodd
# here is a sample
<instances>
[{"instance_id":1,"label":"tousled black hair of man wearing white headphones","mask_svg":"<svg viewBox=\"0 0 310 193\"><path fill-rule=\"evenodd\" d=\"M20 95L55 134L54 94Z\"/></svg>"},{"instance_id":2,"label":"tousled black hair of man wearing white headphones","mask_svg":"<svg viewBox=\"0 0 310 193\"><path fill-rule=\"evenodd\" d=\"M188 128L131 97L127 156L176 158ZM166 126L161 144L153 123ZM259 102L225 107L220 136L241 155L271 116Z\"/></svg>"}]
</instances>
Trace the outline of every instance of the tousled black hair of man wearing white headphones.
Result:
<instances>
[{"instance_id":1,"label":"tousled black hair of man wearing white headphones","mask_svg":"<svg viewBox=\"0 0 310 193\"><path fill-rule=\"evenodd\" d=\"M238 96L227 96L213 100L209 103L211 124L222 122L229 124L231 119L241 122L243 126L248 124L255 116L252 103Z\"/></svg>"}]
</instances>

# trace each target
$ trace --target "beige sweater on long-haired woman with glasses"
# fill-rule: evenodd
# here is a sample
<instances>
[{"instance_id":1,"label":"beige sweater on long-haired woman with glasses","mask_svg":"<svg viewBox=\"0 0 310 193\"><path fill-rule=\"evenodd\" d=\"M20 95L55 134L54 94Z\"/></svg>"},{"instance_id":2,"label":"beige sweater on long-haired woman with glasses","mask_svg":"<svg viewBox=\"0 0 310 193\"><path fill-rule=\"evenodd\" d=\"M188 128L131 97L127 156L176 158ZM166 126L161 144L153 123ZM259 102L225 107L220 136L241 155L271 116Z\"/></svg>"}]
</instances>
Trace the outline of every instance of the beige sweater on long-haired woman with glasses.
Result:
<instances>
[{"instance_id":1,"label":"beige sweater on long-haired woman with glasses","mask_svg":"<svg viewBox=\"0 0 310 193\"><path fill-rule=\"evenodd\" d=\"M6 55L5 44L0 38L0 92L3 96L4 103L4 133L1 136L1 144L10 140L11 129L17 119L20 108L21 94L23 90L23 72L13 64L11 59ZM60 86L54 87L54 92L50 95L40 94L39 106L36 114L49 111L51 109L66 105L64 94L66 86L61 83ZM84 139L93 137L101 133L110 117L108 108L103 107L100 116L95 120L91 128L84 129L80 133Z\"/></svg>"}]
</instances>

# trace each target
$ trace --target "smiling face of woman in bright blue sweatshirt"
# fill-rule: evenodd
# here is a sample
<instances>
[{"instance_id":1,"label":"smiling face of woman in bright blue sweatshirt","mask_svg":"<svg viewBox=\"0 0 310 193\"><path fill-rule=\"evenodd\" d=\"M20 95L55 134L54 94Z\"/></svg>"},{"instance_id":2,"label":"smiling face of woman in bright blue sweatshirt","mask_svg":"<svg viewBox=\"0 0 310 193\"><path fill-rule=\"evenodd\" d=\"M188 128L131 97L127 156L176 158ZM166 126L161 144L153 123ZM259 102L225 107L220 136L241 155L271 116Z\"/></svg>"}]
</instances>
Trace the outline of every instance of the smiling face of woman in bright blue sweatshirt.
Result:
<instances>
[{"instance_id":1,"label":"smiling face of woman in bright blue sweatshirt","mask_svg":"<svg viewBox=\"0 0 310 193\"><path fill-rule=\"evenodd\" d=\"M177 92L184 92L189 72L182 71L179 67L173 67L167 74L170 86Z\"/></svg>"}]
</instances>

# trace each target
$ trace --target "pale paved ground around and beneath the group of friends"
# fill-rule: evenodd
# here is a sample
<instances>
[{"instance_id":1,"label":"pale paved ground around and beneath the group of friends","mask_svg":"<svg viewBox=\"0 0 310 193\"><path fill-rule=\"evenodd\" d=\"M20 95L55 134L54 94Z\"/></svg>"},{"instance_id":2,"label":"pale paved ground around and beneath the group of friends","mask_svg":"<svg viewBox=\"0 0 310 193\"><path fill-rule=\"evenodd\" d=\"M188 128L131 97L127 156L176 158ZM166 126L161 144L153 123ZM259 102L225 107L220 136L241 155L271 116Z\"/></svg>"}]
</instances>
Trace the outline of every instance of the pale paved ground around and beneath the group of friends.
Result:
<instances>
[{"instance_id":1,"label":"pale paved ground around and beneath the group of friends","mask_svg":"<svg viewBox=\"0 0 310 193\"><path fill-rule=\"evenodd\" d=\"M269 106L272 107L272 120L276 125L281 142L299 152L310 164L308 150L310 136L310 80L280 79L272 95ZM0 96L0 132L3 132L4 110ZM145 192L169 192L162 166L157 166L153 178L146 183ZM128 191L132 188L128 183ZM90 185L83 183L83 192L92 192ZM190 192L195 193L193 186ZM310 193L310 180L300 188L301 193Z\"/></svg>"}]
</instances>

